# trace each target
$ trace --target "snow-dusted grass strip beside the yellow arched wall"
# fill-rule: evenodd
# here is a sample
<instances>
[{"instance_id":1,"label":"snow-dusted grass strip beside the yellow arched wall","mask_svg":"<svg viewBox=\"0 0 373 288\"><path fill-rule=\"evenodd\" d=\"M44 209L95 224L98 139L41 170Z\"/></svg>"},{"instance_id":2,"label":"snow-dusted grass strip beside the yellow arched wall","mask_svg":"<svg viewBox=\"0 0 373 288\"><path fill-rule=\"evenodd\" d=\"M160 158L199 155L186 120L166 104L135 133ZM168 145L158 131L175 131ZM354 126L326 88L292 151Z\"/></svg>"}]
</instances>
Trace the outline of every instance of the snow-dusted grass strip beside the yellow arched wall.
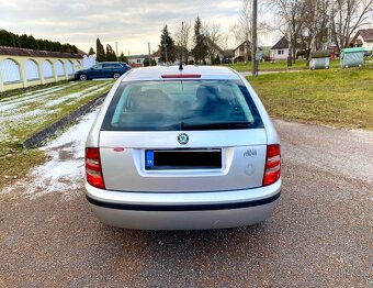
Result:
<instances>
[{"instance_id":1,"label":"snow-dusted grass strip beside the yellow arched wall","mask_svg":"<svg viewBox=\"0 0 373 288\"><path fill-rule=\"evenodd\" d=\"M109 91L113 80L75 81L5 92L0 98L0 190L44 163L38 149L24 149L24 140L80 106Z\"/></svg>"}]
</instances>

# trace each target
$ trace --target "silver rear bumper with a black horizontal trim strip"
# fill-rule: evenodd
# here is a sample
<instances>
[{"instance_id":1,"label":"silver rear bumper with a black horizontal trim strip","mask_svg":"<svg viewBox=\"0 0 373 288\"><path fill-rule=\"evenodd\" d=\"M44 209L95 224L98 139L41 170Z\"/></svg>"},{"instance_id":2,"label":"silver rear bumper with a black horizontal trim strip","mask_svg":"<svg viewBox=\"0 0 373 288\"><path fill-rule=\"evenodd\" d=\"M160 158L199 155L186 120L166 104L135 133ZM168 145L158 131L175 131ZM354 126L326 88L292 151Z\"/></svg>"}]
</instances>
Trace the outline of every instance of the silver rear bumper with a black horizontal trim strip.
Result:
<instances>
[{"instance_id":1,"label":"silver rear bumper with a black horizontal trim strip","mask_svg":"<svg viewBox=\"0 0 373 288\"><path fill-rule=\"evenodd\" d=\"M140 230L203 230L255 224L271 217L281 193L275 184L245 190L149 193L97 189L87 199L100 221Z\"/></svg>"}]
</instances>

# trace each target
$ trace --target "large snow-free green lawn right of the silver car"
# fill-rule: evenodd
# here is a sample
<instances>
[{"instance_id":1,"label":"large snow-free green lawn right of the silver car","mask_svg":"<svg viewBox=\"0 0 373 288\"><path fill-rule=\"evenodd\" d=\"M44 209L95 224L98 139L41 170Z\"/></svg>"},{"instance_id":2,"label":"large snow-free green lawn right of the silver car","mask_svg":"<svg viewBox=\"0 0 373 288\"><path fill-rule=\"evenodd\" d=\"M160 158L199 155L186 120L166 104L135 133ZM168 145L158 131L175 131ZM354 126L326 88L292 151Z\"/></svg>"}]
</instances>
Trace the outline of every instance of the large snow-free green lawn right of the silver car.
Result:
<instances>
[{"instance_id":1,"label":"large snow-free green lawn right of the silver car","mask_svg":"<svg viewBox=\"0 0 373 288\"><path fill-rule=\"evenodd\" d=\"M274 118L373 130L373 69L331 69L248 77Z\"/></svg>"}]
</instances>

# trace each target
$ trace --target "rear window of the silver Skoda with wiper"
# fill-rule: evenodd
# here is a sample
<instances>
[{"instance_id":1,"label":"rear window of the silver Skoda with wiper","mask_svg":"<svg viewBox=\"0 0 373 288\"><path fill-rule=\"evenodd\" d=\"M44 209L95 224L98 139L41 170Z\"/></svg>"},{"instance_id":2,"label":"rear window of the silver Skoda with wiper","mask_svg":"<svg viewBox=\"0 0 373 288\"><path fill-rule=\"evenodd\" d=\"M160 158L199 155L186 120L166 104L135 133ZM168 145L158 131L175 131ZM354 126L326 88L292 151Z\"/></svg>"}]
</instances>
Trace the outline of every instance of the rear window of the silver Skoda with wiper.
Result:
<instances>
[{"instance_id":1,"label":"rear window of the silver Skoda with wiper","mask_svg":"<svg viewBox=\"0 0 373 288\"><path fill-rule=\"evenodd\" d=\"M238 80L122 82L103 131L228 130L263 128Z\"/></svg>"}]
</instances>

